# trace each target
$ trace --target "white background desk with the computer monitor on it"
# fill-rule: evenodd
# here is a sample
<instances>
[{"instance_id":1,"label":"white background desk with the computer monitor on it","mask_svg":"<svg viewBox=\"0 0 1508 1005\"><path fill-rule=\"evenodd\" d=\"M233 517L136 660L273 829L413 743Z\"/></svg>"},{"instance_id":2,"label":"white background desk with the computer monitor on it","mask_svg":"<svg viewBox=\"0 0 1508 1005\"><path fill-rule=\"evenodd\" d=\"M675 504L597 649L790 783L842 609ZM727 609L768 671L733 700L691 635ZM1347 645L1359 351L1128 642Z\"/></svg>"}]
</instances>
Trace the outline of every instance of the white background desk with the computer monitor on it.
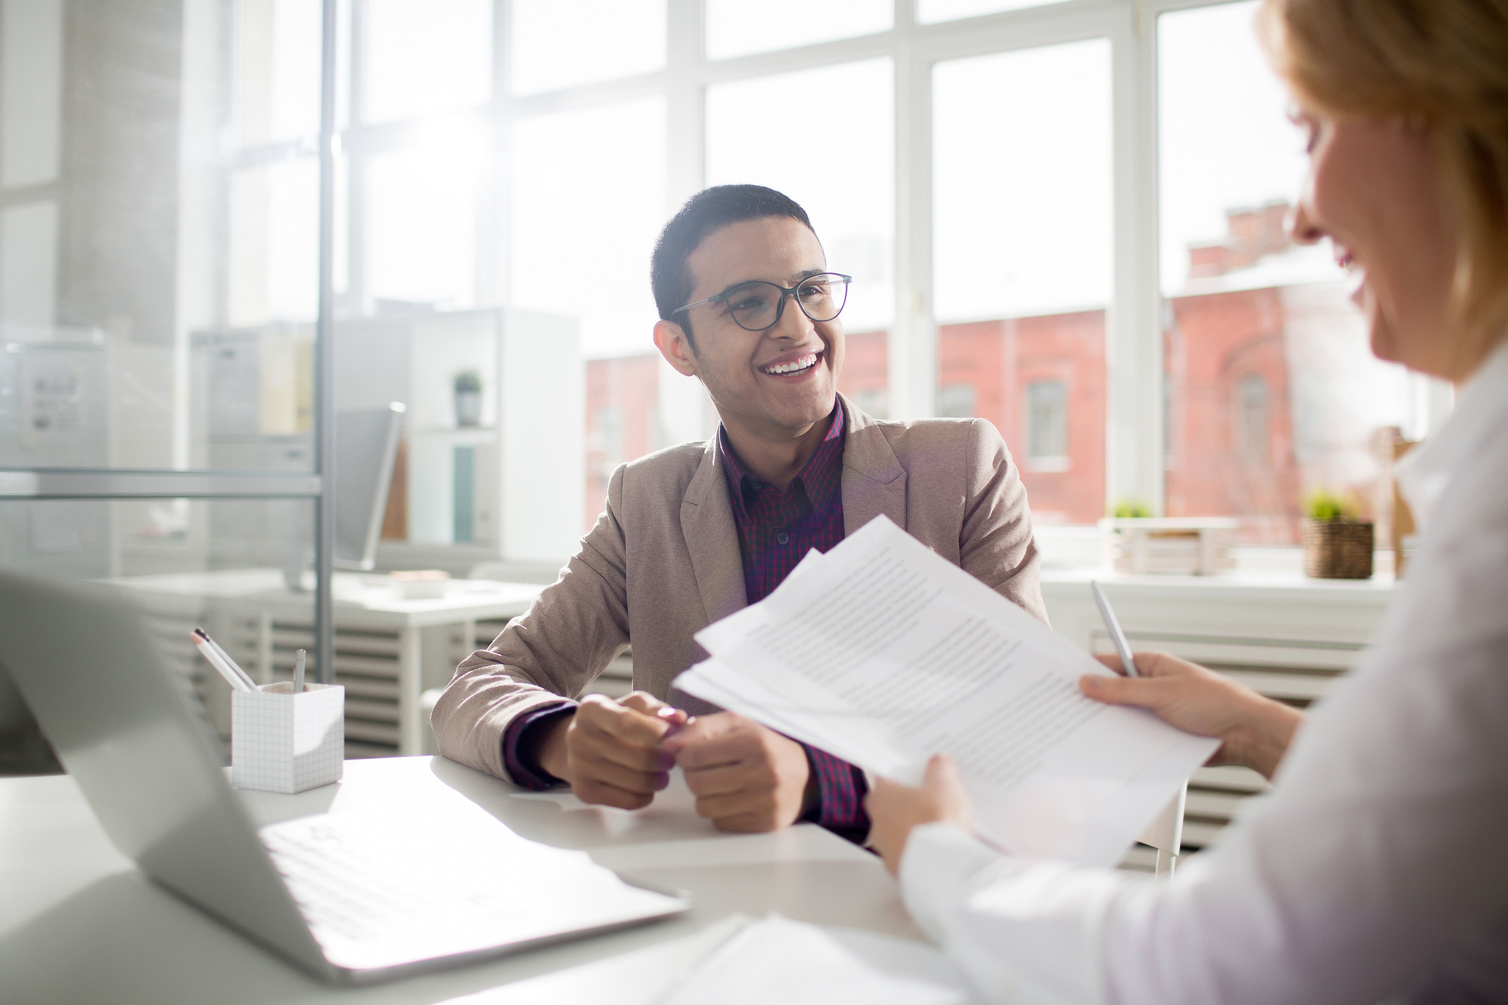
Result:
<instances>
[{"instance_id":1,"label":"white background desk with the computer monitor on it","mask_svg":"<svg viewBox=\"0 0 1508 1005\"><path fill-rule=\"evenodd\" d=\"M309 624L312 619L312 595L288 591L279 570L122 576L106 582L133 591L143 607L158 615L185 615L219 603L256 616L256 658L247 669L261 683L273 680L273 622ZM422 753L428 734L419 705L424 690L421 630L461 625L464 637L472 640L477 637L478 621L522 615L543 589L535 583L458 579L451 580L445 597L397 600L383 576L335 576L332 601L338 631L375 630L398 634L398 753Z\"/></svg>"}]
</instances>

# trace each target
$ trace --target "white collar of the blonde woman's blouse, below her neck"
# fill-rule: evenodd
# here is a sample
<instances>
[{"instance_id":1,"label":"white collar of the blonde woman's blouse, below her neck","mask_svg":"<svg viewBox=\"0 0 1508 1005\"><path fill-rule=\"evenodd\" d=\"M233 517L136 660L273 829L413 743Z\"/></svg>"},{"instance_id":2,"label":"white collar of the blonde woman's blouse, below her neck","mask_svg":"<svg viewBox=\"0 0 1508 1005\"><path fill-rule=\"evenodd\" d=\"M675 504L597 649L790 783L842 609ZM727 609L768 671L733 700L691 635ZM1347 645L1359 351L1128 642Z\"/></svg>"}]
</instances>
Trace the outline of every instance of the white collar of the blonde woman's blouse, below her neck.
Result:
<instances>
[{"instance_id":1,"label":"white collar of the blonde woman's blouse, below her neck","mask_svg":"<svg viewBox=\"0 0 1508 1005\"><path fill-rule=\"evenodd\" d=\"M1503 425L1508 425L1508 339L1460 389L1455 408L1439 432L1405 454L1393 469L1398 490L1421 529L1445 497L1451 476Z\"/></svg>"}]
</instances>

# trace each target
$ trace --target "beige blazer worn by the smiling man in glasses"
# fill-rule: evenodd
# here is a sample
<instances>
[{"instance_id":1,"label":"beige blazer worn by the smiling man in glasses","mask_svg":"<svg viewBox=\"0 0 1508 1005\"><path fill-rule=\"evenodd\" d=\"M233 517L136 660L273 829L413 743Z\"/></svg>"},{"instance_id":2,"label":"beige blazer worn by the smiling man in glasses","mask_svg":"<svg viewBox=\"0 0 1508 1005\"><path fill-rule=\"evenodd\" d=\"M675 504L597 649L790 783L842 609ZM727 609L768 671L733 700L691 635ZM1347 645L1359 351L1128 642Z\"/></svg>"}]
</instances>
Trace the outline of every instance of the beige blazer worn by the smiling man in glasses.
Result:
<instances>
[{"instance_id":1,"label":"beige blazer worn by the smiling man in glasses","mask_svg":"<svg viewBox=\"0 0 1508 1005\"><path fill-rule=\"evenodd\" d=\"M843 399L843 529L885 514L947 561L1047 621L1027 493L982 419L878 422ZM692 634L746 606L716 437L624 464L581 551L529 610L455 671L431 723L452 761L508 777L502 734L576 696L630 642L633 687L667 698L706 658ZM710 708L689 695L677 705Z\"/></svg>"}]
</instances>

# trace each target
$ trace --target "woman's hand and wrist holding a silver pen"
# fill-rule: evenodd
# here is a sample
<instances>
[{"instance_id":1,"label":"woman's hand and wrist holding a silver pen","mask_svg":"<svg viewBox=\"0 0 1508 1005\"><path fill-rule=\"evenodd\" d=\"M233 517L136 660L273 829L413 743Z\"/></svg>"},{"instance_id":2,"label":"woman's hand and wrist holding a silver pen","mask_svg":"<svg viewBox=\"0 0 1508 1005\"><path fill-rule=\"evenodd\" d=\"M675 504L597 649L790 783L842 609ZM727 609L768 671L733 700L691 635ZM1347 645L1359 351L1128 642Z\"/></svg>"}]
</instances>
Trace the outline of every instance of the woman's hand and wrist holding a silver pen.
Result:
<instances>
[{"instance_id":1,"label":"woman's hand and wrist holding a silver pen","mask_svg":"<svg viewBox=\"0 0 1508 1005\"><path fill-rule=\"evenodd\" d=\"M1184 732L1217 737L1209 764L1241 764L1273 777L1304 714L1167 652L1136 652L1140 677L1086 674L1078 687L1108 705L1136 705ZM1095 657L1122 674L1120 657Z\"/></svg>"}]
</instances>

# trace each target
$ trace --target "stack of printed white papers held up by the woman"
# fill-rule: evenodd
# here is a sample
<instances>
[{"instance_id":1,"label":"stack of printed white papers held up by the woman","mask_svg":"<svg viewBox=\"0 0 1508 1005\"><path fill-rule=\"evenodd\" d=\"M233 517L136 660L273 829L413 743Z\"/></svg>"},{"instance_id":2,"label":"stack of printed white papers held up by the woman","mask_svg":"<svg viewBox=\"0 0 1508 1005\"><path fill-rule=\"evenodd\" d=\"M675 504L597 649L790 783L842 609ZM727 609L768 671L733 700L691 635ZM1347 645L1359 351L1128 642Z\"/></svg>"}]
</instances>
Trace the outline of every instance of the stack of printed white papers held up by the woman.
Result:
<instances>
[{"instance_id":1,"label":"stack of printed white papers held up by the woman","mask_svg":"<svg viewBox=\"0 0 1508 1005\"><path fill-rule=\"evenodd\" d=\"M1114 865L1218 746L1084 698L1110 671L885 517L697 642L697 698L909 785L952 755L1010 854Z\"/></svg>"}]
</instances>

